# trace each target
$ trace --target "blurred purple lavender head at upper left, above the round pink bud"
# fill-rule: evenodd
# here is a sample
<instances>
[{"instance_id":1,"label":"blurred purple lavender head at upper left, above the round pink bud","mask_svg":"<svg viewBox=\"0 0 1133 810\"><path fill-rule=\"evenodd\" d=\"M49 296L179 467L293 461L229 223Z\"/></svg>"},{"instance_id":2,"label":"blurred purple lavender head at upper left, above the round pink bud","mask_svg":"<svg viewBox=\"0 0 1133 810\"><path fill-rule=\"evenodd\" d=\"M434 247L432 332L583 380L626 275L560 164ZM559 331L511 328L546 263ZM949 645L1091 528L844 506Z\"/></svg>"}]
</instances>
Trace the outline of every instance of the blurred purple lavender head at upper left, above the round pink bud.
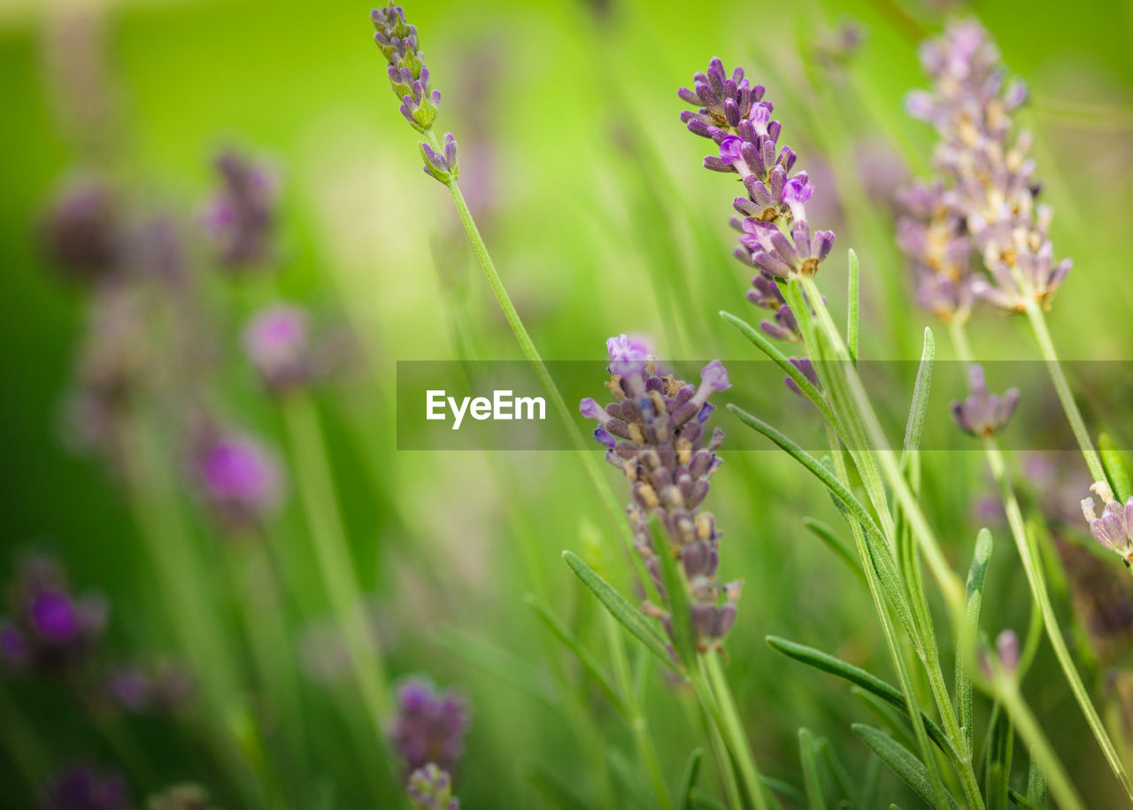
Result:
<instances>
[{"instance_id":1,"label":"blurred purple lavender head at upper left, above the round pink bud","mask_svg":"<svg viewBox=\"0 0 1133 810\"><path fill-rule=\"evenodd\" d=\"M225 270L263 266L273 258L275 179L267 169L236 152L215 161L220 187L204 206L202 222Z\"/></svg>"}]
</instances>

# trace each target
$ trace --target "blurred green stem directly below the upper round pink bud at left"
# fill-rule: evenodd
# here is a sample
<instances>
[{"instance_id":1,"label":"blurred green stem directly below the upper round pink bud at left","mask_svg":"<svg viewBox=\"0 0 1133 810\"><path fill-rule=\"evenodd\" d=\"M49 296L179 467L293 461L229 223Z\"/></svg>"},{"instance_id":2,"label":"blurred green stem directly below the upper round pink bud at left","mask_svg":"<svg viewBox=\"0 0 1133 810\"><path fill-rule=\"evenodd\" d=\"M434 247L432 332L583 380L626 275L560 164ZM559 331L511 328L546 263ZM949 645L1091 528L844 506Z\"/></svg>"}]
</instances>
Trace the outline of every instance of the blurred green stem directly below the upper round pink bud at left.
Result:
<instances>
[{"instance_id":1,"label":"blurred green stem directly below the upper round pink bud at left","mask_svg":"<svg viewBox=\"0 0 1133 810\"><path fill-rule=\"evenodd\" d=\"M292 468L307 514L323 587L350 653L353 674L374 732L378 740L384 740L382 728L391 706L390 688L382 667L381 650L374 634L366 626L361 609L361 592L355 578L342 515L339 513L338 494L318 413L303 392L284 400L282 411L295 455Z\"/></svg>"}]
</instances>

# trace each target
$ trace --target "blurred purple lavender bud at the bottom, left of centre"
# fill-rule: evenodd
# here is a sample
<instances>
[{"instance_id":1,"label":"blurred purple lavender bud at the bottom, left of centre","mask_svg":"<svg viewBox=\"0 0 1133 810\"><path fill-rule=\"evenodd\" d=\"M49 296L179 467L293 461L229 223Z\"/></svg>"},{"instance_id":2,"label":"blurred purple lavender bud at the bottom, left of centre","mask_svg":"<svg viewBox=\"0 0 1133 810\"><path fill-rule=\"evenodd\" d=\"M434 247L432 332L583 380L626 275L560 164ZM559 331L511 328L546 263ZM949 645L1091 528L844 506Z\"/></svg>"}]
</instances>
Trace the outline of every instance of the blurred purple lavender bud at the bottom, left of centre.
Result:
<instances>
[{"instance_id":1,"label":"blurred purple lavender bud at the bottom, left of centre","mask_svg":"<svg viewBox=\"0 0 1133 810\"><path fill-rule=\"evenodd\" d=\"M467 731L468 707L463 698L438 692L421 679L410 679L398 689L390 740L407 777L429 762L452 773L463 753Z\"/></svg>"}]
</instances>

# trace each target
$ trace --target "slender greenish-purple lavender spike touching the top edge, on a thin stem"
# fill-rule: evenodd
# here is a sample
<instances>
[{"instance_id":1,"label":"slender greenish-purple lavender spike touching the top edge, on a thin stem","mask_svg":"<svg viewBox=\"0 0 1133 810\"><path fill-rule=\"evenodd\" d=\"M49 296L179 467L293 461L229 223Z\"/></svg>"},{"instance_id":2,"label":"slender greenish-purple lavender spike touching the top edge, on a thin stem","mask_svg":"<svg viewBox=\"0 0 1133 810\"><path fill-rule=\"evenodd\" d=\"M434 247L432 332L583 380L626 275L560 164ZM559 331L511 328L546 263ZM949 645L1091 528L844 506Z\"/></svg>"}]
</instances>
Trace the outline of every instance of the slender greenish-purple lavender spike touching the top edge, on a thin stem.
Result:
<instances>
[{"instance_id":1,"label":"slender greenish-purple lavender spike touching the top edge, on a thin stem","mask_svg":"<svg viewBox=\"0 0 1133 810\"><path fill-rule=\"evenodd\" d=\"M443 148L435 148L433 125L440 111L441 91L429 86L417 27L409 25L404 9L393 3L374 9L369 16L376 31L374 42L390 63L390 86L401 100L401 114L409 126L429 139L420 145L425 173L448 185L457 179L457 140L452 133L446 133Z\"/></svg>"}]
</instances>

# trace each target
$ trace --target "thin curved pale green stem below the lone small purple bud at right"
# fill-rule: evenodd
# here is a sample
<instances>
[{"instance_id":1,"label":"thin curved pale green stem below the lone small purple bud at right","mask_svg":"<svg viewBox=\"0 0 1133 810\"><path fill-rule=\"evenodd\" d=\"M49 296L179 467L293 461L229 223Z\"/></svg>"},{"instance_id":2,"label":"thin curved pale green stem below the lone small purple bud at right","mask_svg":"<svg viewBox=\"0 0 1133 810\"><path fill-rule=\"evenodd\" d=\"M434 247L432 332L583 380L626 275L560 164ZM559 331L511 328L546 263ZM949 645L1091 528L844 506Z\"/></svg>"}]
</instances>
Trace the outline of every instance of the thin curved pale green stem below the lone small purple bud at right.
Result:
<instances>
[{"instance_id":1,"label":"thin curved pale green stem below the lone small purple bud at right","mask_svg":"<svg viewBox=\"0 0 1133 810\"><path fill-rule=\"evenodd\" d=\"M1101 747L1101 752L1105 754L1106 761L1109 762L1109 767L1113 768L1117 781L1121 782L1122 787L1125 788L1125 793L1128 795L1130 800L1133 801L1133 784L1130 783L1128 775L1125 773L1125 766L1122 764L1117 749L1109 739L1109 734L1106 732L1106 726L1102 724L1101 718L1093 708L1093 702L1090 700L1090 694L1085 689L1085 684L1082 683L1082 677L1079 675L1077 668L1074 666L1074 660L1071 658L1070 649L1066 647L1066 640L1063 638L1062 630L1058 626L1058 619L1055 616L1054 606L1050 604L1050 595L1047 592L1042 568L1034 559L1034 555L1031 554L1031 544L1028 543L1026 539L1026 527L1023 522L1023 513L1019 508L1019 500L1015 497L1015 492L1007 478L1007 467L1004 462L1003 453L999 451L999 446L993 437L983 440L983 449L987 454L988 467L991 468L991 475L995 478L996 484L998 484L999 491L1003 495L1004 508L1007 512L1007 525L1011 527L1011 534L1015 539L1015 546L1019 549L1019 556L1023 563L1023 571L1026 574L1026 581L1031 587L1031 596L1034 598L1036 603L1038 603L1039 608L1042 612L1042 621L1047 628L1047 638L1050 639L1050 646L1055 650L1055 657L1058 658L1058 665L1062 667L1063 674L1070 683L1071 691L1074 693L1074 699L1077 701L1079 707L1082 709L1082 714L1085 716L1085 722L1089 724L1090 731L1093 732L1093 736L1097 739L1098 745Z\"/></svg>"}]
</instances>

